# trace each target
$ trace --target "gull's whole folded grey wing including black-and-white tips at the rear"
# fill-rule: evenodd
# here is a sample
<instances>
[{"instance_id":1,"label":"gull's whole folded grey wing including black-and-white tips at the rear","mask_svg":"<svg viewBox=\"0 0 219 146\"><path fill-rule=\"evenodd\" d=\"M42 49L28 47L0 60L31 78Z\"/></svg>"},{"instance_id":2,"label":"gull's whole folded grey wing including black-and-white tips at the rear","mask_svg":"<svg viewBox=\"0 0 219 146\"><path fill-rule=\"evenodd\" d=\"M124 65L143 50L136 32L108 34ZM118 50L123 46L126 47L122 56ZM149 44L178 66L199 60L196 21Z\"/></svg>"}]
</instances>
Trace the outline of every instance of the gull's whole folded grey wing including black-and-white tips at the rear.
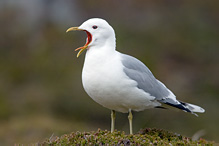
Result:
<instances>
[{"instance_id":1,"label":"gull's whole folded grey wing including black-and-white tips at the rear","mask_svg":"<svg viewBox=\"0 0 219 146\"><path fill-rule=\"evenodd\" d=\"M137 82L139 89L154 96L155 100L193 114L195 114L194 112L204 112L204 109L198 106L176 100L175 95L162 82L157 80L147 66L138 59L122 54L122 64L125 74Z\"/></svg>"}]
</instances>

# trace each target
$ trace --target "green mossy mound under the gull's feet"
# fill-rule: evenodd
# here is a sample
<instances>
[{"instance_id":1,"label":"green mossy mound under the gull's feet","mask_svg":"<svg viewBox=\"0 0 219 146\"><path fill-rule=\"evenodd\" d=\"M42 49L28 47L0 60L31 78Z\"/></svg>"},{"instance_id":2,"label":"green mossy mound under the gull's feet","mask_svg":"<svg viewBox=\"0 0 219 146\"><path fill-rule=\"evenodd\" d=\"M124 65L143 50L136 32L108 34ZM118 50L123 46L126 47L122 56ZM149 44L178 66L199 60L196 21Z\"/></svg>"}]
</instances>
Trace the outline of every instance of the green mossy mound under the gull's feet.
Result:
<instances>
[{"instance_id":1,"label":"green mossy mound under the gull's feet","mask_svg":"<svg viewBox=\"0 0 219 146\"><path fill-rule=\"evenodd\" d=\"M134 135L125 132L103 131L98 129L91 132L73 132L61 137L45 140L42 145L213 145L213 142L200 139L192 141L191 138L171 133L161 129L146 128Z\"/></svg>"}]
</instances>

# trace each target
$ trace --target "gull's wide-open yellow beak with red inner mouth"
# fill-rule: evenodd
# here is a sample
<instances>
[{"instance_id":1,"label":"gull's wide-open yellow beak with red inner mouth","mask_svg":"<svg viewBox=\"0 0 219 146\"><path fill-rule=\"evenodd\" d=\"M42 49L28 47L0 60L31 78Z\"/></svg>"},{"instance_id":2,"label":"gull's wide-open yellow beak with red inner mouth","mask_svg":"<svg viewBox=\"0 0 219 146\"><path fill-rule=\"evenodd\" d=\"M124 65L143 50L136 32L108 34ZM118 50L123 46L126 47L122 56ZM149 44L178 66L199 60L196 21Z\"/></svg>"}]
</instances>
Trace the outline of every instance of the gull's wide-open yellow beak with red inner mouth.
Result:
<instances>
[{"instance_id":1,"label":"gull's wide-open yellow beak with red inner mouth","mask_svg":"<svg viewBox=\"0 0 219 146\"><path fill-rule=\"evenodd\" d=\"M79 47L77 49L75 49L75 51L78 51L78 54L77 54L77 57L79 57L81 55L81 53L88 48L88 45L91 43L92 41L92 35L90 32L84 30L84 29L79 29L78 27L70 27L69 29L66 30L66 32L69 32L69 31L75 31L75 30L80 30L80 31L85 31L87 33L87 41L86 41L86 44L82 47Z\"/></svg>"}]
</instances>

